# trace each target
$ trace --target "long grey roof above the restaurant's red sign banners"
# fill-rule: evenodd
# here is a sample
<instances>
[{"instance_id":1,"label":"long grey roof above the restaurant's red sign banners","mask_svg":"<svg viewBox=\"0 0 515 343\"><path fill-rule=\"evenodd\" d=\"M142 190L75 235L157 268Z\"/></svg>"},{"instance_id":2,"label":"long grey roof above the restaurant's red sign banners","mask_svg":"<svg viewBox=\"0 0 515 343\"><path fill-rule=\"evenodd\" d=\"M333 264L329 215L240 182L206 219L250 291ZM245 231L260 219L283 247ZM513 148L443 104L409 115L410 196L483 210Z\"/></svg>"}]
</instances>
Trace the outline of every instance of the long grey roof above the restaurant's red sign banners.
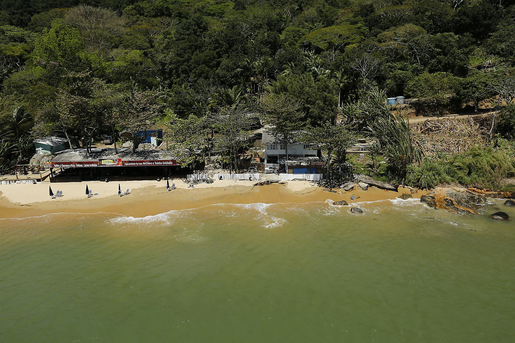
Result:
<instances>
[{"instance_id":1,"label":"long grey roof above the restaurant's red sign banners","mask_svg":"<svg viewBox=\"0 0 515 343\"><path fill-rule=\"evenodd\" d=\"M130 148L118 148L115 153L113 148L92 149L88 153L86 149L63 150L54 159L53 162L91 162L100 158L121 158L124 161L139 161L152 159L176 159L166 150L136 150L132 152Z\"/></svg>"}]
</instances>

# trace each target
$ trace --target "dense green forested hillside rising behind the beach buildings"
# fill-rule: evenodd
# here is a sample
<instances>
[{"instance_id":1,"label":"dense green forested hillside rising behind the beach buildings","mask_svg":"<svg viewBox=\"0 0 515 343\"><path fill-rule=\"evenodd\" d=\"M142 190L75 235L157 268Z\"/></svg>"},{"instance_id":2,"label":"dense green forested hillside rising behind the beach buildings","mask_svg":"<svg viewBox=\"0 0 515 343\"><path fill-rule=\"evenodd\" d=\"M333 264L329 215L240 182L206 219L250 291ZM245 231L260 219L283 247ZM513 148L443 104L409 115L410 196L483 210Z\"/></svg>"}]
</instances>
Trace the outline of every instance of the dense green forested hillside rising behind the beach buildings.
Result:
<instances>
[{"instance_id":1,"label":"dense green forested hillside rising behind the beach buildings","mask_svg":"<svg viewBox=\"0 0 515 343\"><path fill-rule=\"evenodd\" d=\"M34 137L91 140L238 99L294 99L316 127L375 87L435 106L515 97L508 0L1 3L4 168Z\"/></svg>"}]
</instances>

